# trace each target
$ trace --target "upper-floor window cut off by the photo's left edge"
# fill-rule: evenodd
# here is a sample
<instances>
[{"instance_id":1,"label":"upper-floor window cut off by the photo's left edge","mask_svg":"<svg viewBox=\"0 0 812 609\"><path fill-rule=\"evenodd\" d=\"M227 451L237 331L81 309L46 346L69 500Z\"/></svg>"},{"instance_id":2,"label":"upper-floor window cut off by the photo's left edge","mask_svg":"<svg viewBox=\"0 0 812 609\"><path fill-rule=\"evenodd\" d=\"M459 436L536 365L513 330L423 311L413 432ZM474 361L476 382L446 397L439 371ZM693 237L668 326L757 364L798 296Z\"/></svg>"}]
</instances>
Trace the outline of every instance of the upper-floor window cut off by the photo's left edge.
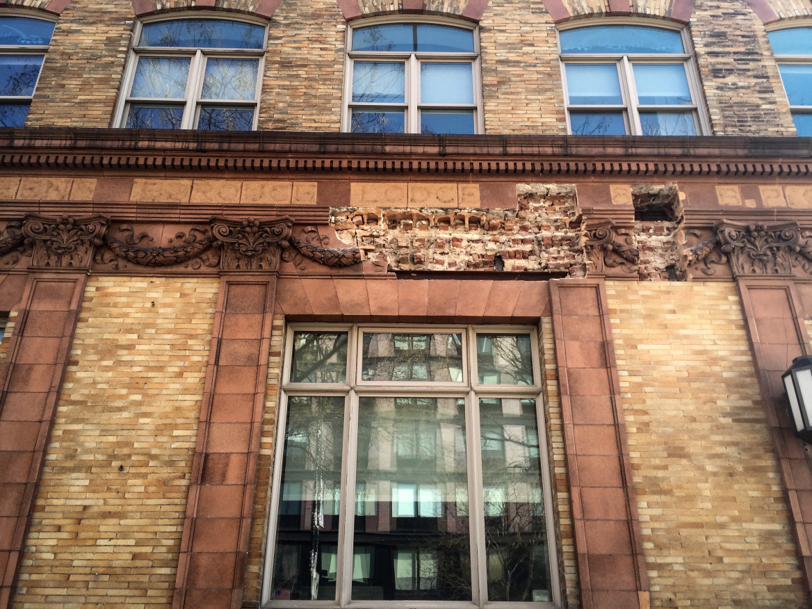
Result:
<instances>
[{"instance_id":1,"label":"upper-floor window cut off by the photo's left edge","mask_svg":"<svg viewBox=\"0 0 812 609\"><path fill-rule=\"evenodd\" d=\"M37 88L54 22L0 17L0 127L22 127Z\"/></svg>"}]
</instances>

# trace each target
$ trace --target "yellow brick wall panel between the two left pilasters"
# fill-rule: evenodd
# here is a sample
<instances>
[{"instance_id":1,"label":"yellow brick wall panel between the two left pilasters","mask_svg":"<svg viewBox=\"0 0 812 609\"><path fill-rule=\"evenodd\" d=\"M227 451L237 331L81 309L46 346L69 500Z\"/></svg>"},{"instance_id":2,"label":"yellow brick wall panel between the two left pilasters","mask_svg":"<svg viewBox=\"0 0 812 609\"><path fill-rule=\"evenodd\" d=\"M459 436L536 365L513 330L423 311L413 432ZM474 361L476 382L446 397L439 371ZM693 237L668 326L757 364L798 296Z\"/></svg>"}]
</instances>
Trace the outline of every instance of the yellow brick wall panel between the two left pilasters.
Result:
<instances>
[{"instance_id":1,"label":"yellow brick wall panel between the two left pilasters","mask_svg":"<svg viewBox=\"0 0 812 609\"><path fill-rule=\"evenodd\" d=\"M91 278L14 607L170 607L217 279Z\"/></svg>"}]
</instances>

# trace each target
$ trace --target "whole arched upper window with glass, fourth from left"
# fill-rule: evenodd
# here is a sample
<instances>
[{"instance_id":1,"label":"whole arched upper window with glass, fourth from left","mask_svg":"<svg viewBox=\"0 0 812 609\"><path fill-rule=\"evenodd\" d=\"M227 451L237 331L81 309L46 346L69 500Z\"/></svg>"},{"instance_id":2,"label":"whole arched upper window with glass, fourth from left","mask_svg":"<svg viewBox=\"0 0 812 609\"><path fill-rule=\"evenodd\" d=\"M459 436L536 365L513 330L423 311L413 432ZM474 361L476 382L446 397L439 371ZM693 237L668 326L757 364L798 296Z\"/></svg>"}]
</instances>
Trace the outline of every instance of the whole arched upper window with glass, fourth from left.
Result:
<instances>
[{"instance_id":1,"label":"whole arched upper window with glass, fourth from left","mask_svg":"<svg viewBox=\"0 0 812 609\"><path fill-rule=\"evenodd\" d=\"M695 136L696 67L683 33L641 25L559 32L569 132L578 136Z\"/></svg>"}]
</instances>

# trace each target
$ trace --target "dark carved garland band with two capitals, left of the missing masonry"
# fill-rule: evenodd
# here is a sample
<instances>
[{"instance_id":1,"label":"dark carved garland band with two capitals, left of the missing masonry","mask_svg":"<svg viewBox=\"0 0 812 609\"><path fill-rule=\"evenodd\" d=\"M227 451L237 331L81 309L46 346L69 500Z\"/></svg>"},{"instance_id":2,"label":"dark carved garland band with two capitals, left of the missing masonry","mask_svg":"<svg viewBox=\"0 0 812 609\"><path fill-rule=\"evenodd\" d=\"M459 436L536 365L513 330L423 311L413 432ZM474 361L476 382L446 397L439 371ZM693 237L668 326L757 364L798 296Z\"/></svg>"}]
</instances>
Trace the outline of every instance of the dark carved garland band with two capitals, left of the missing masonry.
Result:
<instances>
[{"instance_id":1,"label":"dark carved garland band with two capitals, left of the missing masonry","mask_svg":"<svg viewBox=\"0 0 812 609\"><path fill-rule=\"evenodd\" d=\"M171 245L162 247L151 245L152 235L136 235L128 225L111 231L109 218L102 215L29 215L23 222L9 222L0 232L0 257L10 256L6 262L13 264L30 252L32 266L47 268L87 268L95 260L114 268L119 261L127 261L149 267L186 264L221 270L276 270L283 252L325 266L352 266L361 261L359 248L326 248L294 237L293 222L290 216L271 220L215 217L208 226L177 233ZM315 232L309 228L304 232L308 231Z\"/></svg>"}]
</instances>

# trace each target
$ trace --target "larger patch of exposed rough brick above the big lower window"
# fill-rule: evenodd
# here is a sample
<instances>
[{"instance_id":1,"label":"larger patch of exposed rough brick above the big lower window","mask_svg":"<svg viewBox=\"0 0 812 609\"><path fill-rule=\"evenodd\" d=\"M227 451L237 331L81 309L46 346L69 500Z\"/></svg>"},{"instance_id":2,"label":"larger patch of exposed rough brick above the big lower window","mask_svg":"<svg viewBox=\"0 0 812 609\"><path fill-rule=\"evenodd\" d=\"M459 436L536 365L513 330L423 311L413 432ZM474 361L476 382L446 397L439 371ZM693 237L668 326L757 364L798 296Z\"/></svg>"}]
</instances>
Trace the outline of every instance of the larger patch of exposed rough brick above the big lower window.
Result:
<instances>
[{"instance_id":1,"label":"larger patch of exposed rough brick above the big lower window","mask_svg":"<svg viewBox=\"0 0 812 609\"><path fill-rule=\"evenodd\" d=\"M330 216L340 240L389 270L585 273L568 185L519 184L512 209L342 207Z\"/></svg>"}]
</instances>

